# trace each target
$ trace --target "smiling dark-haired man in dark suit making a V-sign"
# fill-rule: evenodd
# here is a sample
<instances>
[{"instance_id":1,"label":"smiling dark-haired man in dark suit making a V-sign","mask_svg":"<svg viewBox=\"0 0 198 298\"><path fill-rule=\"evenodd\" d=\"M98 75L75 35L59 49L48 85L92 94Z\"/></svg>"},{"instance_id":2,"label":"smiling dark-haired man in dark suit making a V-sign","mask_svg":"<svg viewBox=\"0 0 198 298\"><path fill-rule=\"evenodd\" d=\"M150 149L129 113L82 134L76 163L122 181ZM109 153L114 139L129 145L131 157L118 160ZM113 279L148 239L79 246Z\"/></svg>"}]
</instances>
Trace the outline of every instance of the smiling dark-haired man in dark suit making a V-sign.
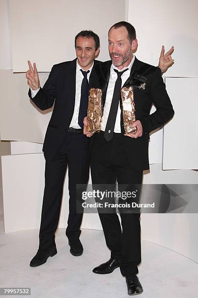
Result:
<instances>
[{"instance_id":1,"label":"smiling dark-haired man in dark suit making a V-sign","mask_svg":"<svg viewBox=\"0 0 198 298\"><path fill-rule=\"evenodd\" d=\"M30 266L39 266L57 253L55 231L59 222L63 185L68 165L69 215L66 236L70 253L83 252L79 239L82 213L76 212L76 184L86 185L89 178L89 139L83 135L83 118L87 114L88 83L99 61L99 37L92 31L82 31L75 37L77 58L56 64L43 88L40 87L35 63L28 61L26 78L29 96L40 109L53 106L43 145L46 159L45 190L39 232L39 249Z\"/></svg>"}]
</instances>

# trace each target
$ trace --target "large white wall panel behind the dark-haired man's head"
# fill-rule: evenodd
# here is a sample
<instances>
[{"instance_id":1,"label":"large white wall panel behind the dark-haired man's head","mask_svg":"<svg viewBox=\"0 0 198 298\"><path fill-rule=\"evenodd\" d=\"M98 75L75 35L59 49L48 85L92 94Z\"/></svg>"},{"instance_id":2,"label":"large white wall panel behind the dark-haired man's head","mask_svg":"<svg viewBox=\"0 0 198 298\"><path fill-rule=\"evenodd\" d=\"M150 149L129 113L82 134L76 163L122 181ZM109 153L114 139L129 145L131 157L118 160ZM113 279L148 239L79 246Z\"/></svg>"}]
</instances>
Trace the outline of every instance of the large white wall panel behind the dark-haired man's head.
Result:
<instances>
[{"instance_id":1,"label":"large white wall panel behind the dark-haired man's head","mask_svg":"<svg viewBox=\"0 0 198 298\"><path fill-rule=\"evenodd\" d=\"M125 1L115 0L9 0L13 71L24 72L27 60L39 72L75 57L74 37L93 30L101 41L99 59L109 59L108 30L125 19Z\"/></svg>"}]
</instances>

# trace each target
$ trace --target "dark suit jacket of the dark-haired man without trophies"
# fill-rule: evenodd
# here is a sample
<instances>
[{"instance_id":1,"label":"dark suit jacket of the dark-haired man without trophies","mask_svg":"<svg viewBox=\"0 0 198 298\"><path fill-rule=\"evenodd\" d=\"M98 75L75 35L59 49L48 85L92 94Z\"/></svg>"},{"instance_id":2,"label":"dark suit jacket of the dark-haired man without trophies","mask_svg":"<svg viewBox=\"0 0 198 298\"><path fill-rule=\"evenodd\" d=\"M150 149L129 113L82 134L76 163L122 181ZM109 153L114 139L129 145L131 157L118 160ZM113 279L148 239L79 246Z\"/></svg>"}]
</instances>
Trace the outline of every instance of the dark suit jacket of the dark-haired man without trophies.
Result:
<instances>
[{"instance_id":1,"label":"dark suit jacket of the dark-haired man without trophies","mask_svg":"<svg viewBox=\"0 0 198 298\"><path fill-rule=\"evenodd\" d=\"M39 92L33 98L31 90L28 93L33 103L42 111L51 108L54 104L43 144L44 155L48 159L52 159L58 152L73 116L76 94L76 60L53 65L43 88L40 87ZM94 61L89 77L90 84L92 84L94 68L98 63L100 61Z\"/></svg>"}]
</instances>

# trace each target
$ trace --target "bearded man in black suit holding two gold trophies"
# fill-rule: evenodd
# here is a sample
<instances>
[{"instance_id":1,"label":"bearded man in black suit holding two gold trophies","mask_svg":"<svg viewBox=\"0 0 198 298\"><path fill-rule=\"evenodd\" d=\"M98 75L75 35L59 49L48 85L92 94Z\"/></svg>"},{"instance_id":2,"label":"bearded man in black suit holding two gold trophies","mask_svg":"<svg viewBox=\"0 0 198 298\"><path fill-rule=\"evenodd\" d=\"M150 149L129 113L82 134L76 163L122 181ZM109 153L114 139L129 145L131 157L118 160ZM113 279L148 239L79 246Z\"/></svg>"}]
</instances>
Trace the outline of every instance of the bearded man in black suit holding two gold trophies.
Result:
<instances>
[{"instance_id":1,"label":"bearded man in black suit holding two gold trophies","mask_svg":"<svg viewBox=\"0 0 198 298\"><path fill-rule=\"evenodd\" d=\"M94 188L97 185L102 190L107 185L113 185L114 188L117 180L119 190L132 192L138 189L134 201L138 203L143 170L149 169L149 132L168 122L174 111L160 68L139 61L133 55L136 49L136 33L130 23L122 21L110 28L111 60L96 66L96 76L90 84L90 87L102 90L103 108L101 131L93 136L91 176ZM137 131L125 134L122 107L119 104L120 90L121 87L130 86L133 87L136 116L132 127L136 127ZM149 114L152 104L156 111ZM86 118L84 124L87 126ZM86 133L85 127L84 133L91 136ZM132 198L130 202L133 202ZM120 267L121 274L126 277L128 294L137 295L143 292L136 276L137 266L141 262L140 212L132 208L119 211L122 228L115 209L109 213L99 209L111 258L94 268L93 272L108 274Z\"/></svg>"}]
</instances>

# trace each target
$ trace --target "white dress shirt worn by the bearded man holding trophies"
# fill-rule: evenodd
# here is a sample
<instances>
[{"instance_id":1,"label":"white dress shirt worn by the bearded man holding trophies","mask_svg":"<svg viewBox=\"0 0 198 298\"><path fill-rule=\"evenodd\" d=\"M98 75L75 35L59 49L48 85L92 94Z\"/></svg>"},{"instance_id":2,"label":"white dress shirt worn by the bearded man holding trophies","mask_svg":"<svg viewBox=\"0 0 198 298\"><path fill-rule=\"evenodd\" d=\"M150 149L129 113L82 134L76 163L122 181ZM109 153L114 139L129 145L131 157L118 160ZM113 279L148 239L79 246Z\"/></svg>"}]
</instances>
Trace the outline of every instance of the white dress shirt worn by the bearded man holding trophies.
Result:
<instances>
[{"instance_id":1,"label":"white dress shirt worn by the bearded man holding trophies","mask_svg":"<svg viewBox=\"0 0 198 298\"><path fill-rule=\"evenodd\" d=\"M108 84L108 87L107 87L106 100L105 100L105 104L104 104L104 110L103 110L103 116L102 116L102 122L101 122L101 130L103 130L103 131L105 131L105 127L106 127L106 124L107 124L107 120L108 120L108 116L109 116L109 112L110 112L110 108L111 108L111 103L112 103L112 98L113 98L113 94L114 94L115 81L117 79L117 74L115 73L114 69L116 69L118 72L122 72L122 71L124 71L125 69L128 68L128 70L121 75L122 86L123 86L124 83L126 82L126 80L130 76L131 69L132 69L132 64L133 64L134 60L135 60L135 56L133 55L132 61L129 64L129 66L124 67L122 70L119 70L113 64L111 65L109 84ZM121 132L120 114L121 114L120 105L118 105L114 132Z\"/></svg>"}]
</instances>

